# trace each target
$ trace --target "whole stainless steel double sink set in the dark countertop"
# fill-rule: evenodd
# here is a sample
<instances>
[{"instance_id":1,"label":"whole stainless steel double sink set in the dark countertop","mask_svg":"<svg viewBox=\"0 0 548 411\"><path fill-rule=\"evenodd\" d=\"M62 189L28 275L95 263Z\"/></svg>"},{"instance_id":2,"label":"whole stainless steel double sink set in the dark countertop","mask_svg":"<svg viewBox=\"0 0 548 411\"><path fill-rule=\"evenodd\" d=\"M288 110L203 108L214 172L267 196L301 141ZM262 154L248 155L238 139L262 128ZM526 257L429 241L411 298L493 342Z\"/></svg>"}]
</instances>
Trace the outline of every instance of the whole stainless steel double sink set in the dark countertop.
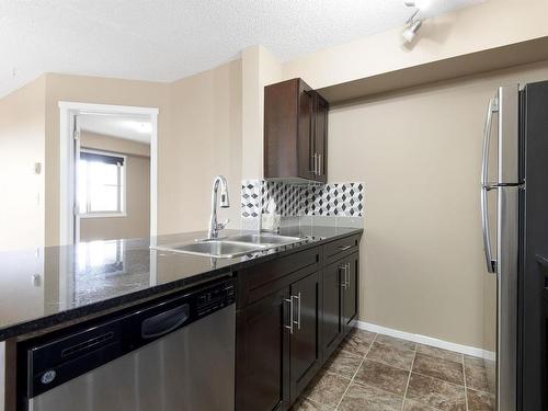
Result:
<instances>
[{"instance_id":1,"label":"whole stainless steel double sink set in the dark countertop","mask_svg":"<svg viewBox=\"0 0 548 411\"><path fill-rule=\"evenodd\" d=\"M292 244L304 239L302 237L273 233L249 233L196 240L191 243L153 246L152 248L160 251L230 259L279 246Z\"/></svg>"}]
</instances>

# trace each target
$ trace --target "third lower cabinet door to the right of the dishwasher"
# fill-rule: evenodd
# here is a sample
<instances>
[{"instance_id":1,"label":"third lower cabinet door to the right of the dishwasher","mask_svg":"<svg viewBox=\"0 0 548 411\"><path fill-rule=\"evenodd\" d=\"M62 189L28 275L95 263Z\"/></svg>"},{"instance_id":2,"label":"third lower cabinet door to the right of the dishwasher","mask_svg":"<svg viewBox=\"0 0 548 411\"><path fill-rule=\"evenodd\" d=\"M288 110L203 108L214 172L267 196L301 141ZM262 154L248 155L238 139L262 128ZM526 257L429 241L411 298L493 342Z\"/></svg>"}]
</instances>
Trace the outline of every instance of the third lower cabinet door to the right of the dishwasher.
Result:
<instances>
[{"instance_id":1,"label":"third lower cabinet door to the right of the dishwasher","mask_svg":"<svg viewBox=\"0 0 548 411\"><path fill-rule=\"evenodd\" d=\"M328 265L322 272L321 341L328 358L342 340L342 263Z\"/></svg>"}]
</instances>

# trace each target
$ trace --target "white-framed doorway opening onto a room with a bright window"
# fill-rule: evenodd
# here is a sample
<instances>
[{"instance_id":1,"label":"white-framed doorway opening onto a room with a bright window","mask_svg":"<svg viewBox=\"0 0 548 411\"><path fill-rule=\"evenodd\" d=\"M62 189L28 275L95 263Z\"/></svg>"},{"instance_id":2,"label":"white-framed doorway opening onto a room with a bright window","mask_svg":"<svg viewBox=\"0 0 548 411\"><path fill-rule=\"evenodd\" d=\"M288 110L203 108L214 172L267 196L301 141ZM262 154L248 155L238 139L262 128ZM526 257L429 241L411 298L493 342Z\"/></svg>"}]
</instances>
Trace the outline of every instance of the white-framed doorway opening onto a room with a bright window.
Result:
<instances>
[{"instance_id":1,"label":"white-framed doorway opening onto a room with a bright window","mask_svg":"<svg viewBox=\"0 0 548 411\"><path fill-rule=\"evenodd\" d=\"M157 109L60 102L60 244L157 235Z\"/></svg>"}]
</instances>

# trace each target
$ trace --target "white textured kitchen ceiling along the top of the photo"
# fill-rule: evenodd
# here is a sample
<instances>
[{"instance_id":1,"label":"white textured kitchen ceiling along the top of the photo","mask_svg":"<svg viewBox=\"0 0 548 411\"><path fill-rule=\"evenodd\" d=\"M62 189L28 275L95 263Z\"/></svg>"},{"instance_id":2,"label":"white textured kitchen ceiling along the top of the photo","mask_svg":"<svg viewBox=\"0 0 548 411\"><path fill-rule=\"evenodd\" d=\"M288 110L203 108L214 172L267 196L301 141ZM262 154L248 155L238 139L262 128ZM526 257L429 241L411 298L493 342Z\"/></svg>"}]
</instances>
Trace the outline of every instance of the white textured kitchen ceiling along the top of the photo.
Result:
<instances>
[{"instance_id":1,"label":"white textured kitchen ceiling along the top of the photo","mask_svg":"<svg viewBox=\"0 0 548 411\"><path fill-rule=\"evenodd\" d=\"M435 15L481 0L422 1ZM0 0L0 95L43 72L173 81L254 44L288 60L410 12L403 0Z\"/></svg>"}]
</instances>

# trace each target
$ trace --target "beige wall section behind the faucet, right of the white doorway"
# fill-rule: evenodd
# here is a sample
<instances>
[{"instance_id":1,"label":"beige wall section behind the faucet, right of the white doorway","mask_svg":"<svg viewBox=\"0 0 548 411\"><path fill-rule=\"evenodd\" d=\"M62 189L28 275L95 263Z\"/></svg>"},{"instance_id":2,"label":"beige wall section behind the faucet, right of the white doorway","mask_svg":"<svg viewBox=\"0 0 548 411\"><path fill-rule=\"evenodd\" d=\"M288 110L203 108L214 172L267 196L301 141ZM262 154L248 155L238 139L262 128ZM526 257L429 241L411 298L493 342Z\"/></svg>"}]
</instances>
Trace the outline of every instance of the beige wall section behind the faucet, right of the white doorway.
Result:
<instances>
[{"instance_id":1,"label":"beige wall section behind the faucet, right of the white doorway","mask_svg":"<svg viewBox=\"0 0 548 411\"><path fill-rule=\"evenodd\" d=\"M158 230L207 229L212 182L222 174L231 207L219 221L239 227L241 193L241 60L185 78L171 87L171 133L160 145ZM160 137L162 138L162 137Z\"/></svg>"}]
</instances>

